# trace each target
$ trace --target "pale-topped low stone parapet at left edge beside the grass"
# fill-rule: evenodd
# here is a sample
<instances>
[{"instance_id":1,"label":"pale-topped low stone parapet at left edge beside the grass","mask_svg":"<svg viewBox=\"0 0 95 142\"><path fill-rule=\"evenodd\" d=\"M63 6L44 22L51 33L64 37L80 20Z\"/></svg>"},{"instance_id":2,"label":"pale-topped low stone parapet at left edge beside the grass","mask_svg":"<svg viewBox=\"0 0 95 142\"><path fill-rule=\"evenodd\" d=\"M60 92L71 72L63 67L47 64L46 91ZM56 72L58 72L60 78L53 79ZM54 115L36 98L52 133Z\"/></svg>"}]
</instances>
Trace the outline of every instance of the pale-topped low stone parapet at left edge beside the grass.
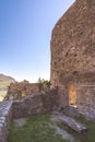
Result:
<instances>
[{"instance_id":1,"label":"pale-topped low stone parapet at left edge beside the grass","mask_svg":"<svg viewBox=\"0 0 95 142\"><path fill-rule=\"evenodd\" d=\"M0 142L5 142L12 120L12 102L0 103Z\"/></svg>"}]
</instances>

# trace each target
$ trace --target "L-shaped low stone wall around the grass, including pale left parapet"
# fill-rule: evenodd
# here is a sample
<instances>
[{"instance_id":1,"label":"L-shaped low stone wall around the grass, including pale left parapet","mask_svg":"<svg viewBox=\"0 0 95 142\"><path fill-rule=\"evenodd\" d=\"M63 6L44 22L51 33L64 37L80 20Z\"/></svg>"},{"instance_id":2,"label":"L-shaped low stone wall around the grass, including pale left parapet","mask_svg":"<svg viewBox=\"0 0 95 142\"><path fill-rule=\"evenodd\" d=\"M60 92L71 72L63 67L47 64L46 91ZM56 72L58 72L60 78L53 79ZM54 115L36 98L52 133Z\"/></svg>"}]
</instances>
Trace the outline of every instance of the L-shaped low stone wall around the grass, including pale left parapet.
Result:
<instances>
[{"instance_id":1,"label":"L-shaped low stone wall around the grass, including pale left parapet","mask_svg":"<svg viewBox=\"0 0 95 142\"><path fill-rule=\"evenodd\" d=\"M14 118L27 117L52 110L58 106L57 88L36 93L22 100L0 103L0 142L7 142L10 122Z\"/></svg>"}]
</instances>

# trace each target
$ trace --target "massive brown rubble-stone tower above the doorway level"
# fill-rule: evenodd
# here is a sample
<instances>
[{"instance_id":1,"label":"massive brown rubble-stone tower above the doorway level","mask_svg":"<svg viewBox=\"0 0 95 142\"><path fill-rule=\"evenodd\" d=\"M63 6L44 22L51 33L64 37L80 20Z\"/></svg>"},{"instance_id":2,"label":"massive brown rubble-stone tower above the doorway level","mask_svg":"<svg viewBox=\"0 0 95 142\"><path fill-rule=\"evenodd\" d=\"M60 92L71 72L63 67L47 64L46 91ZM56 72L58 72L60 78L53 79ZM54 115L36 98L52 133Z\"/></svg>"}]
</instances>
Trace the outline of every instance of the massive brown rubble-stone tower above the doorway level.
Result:
<instances>
[{"instance_id":1,"label":"massive brown rubble-stone tower above the doorway level","mask_svg":"<svg viewBox=\"0 0 95 142\"><path fill-rule=\"evenodd\" d=\"M51 35L51 85L95 81L95 0L76 0Z\"/></svg>"}]
</instances>

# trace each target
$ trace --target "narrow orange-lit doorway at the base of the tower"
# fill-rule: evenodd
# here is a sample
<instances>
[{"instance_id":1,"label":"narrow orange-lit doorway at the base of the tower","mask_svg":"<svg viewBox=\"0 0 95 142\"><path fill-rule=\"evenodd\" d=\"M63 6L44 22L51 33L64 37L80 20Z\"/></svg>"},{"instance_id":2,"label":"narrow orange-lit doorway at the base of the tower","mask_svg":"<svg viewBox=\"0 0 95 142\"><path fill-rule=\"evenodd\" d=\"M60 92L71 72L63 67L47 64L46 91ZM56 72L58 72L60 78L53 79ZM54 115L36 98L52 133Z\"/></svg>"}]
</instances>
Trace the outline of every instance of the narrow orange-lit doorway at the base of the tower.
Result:
<instances>
[{"instance_id":1,"label":"narrow orange-lit doorway at the base of the tower","mask_svg":"<svg viewBox=\"0 0 95 142\"><path fill-rule=\"evenodd\" d=\"M76 86L73 83L69 85L69 105L76 106Z\"/></svg>"}]
</instances>

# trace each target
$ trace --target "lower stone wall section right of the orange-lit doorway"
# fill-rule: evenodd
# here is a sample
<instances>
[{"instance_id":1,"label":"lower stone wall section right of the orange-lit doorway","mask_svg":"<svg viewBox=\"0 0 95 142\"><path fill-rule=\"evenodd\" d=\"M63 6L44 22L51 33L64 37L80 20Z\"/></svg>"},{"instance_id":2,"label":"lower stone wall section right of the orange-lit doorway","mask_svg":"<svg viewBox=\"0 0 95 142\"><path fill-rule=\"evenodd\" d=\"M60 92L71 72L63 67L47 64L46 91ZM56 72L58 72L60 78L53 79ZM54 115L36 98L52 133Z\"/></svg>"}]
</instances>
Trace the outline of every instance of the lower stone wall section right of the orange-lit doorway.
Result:
<instances>
[{"instance_id":1,"label":"lower stone wall section right of the orange-lit doorway","mask_svg":"<svg viewBox=\"0 0 95 142\"><path fill-rule=\"evenodd\" d=\"M95 84L78 85L76 106L80 114L95 120Z\"/></svg>"}]
</instances>

